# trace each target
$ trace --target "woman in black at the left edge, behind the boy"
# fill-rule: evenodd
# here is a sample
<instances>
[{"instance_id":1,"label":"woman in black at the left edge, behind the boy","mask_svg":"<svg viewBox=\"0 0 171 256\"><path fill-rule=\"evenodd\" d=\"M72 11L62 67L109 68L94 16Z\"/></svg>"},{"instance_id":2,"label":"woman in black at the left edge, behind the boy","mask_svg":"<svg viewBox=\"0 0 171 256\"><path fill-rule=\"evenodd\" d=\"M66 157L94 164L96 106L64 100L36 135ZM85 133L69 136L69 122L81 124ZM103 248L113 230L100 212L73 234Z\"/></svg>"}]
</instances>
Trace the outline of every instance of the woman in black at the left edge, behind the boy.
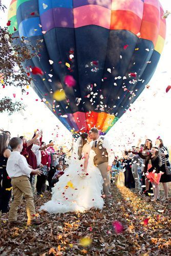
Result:
<instances>
[{"instance_id":1,"label":"woman in black at the left edge, behind the boy","mask_svg":"<svg viewBox=\"0 0 171 256\"><path fill-rule=\"evenodd\" d=\"M0 134L0 211L2 211L2 213L9 211L9 201L12 190L11 179L6 170L7 160L11 155L8 144L9 136L2 132Z\"/></svg>"}]
</instances>

